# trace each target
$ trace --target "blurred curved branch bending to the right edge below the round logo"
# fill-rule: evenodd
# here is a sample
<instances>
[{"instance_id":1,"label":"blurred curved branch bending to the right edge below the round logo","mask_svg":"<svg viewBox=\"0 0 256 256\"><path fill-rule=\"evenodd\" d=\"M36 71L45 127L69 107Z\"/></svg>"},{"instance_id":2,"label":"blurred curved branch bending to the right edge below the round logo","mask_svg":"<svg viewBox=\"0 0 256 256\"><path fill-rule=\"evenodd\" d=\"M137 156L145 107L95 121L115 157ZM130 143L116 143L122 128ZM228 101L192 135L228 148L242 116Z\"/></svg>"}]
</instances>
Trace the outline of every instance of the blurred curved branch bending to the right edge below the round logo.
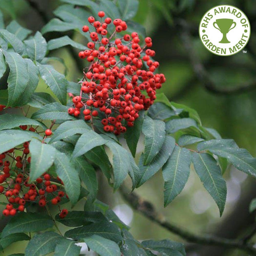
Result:
<instances>
[{"instance_id":1,"label":"blurred curved branch bending to the right edge below the round logo","mask_svg":"<svg viewBox=\"0 0 256 256\"><path fill-rule=\"evenodd\" d=\"M193 49L193 43L191 41L191 35L189 32L190 30L189 24L187 24L187 22L184 20L178 20L177 25L181 26L182 28L180 37L182 39L184 48L187 50L195 75L202 82L205 89L207 89L212 93L222 94L222 95L239 94L245 91L251 91L256 89L256 80L252 80L244 84L236 85L235 87L231 87L231 88L217 87L215 82L213 82L213 80L210 78L199 56L195 53L195 50Z\"/></svg>"}]
</instances>

